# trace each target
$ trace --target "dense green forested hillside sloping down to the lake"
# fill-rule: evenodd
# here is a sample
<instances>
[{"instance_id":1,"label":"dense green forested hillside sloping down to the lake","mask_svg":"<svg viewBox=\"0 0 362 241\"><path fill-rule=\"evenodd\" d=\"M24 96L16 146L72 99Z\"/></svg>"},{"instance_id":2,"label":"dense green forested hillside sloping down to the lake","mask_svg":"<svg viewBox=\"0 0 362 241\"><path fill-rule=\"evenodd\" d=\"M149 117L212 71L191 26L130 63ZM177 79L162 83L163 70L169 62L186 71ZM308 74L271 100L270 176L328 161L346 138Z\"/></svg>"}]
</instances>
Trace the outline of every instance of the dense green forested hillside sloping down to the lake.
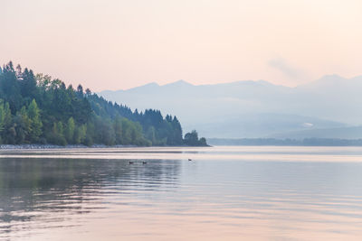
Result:
<instances>
[{"instance_id":1,"label":"dense green forested hillside sloping down to the lake","mask_svg":"<svg viewBox=\"0 0 362 241\"><path fill-rule=\"evenodd\" d=\"M187 134L186 134L187 135ZM188 135L187 135L188 136ZM9 62L0 68L0 144L191 145L176 116L138 113Z\"/></svg>"}]
</instances>

